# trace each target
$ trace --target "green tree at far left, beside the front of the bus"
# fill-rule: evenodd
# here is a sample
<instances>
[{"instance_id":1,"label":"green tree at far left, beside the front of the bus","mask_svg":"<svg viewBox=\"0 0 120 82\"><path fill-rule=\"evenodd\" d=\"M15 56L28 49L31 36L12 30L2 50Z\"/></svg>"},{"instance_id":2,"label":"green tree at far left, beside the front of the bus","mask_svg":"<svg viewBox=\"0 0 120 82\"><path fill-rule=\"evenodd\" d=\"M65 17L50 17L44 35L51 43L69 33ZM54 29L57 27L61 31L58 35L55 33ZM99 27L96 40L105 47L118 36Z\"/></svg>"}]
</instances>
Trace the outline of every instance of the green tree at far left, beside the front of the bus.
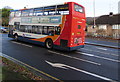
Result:
<instances>
[{"instance_id":1,"label":"green tree at far left, beside the front of the bus","mask_svg":"<svg viewBox=\"0 0 120 82\"><path fill-rule=\"evenodd\" d=\"M2 26L8 26L10 10L8 8L2 8Z\"/></svg>"}]
</instances>

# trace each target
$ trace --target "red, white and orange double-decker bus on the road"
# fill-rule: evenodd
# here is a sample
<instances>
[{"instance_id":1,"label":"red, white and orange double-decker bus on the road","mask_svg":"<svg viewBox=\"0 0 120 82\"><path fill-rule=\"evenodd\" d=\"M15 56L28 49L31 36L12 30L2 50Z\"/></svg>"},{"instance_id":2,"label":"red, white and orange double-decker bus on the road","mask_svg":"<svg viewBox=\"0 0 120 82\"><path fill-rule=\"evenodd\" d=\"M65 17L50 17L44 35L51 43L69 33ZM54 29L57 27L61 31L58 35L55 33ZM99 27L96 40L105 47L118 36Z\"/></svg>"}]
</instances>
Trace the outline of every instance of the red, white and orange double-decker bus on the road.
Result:
<instances>
[{"instance_id":1,"label":"red, white and orange double-decker bus on the road","mask_svg":"<svg viewBox=\"0 0 120 82\"><path fill-rule=\"evenodd\" d=\"M84 47L85 8L75 2L12 10L8 36L48 49L76 50Z\"/></svg>"}]
</instances>

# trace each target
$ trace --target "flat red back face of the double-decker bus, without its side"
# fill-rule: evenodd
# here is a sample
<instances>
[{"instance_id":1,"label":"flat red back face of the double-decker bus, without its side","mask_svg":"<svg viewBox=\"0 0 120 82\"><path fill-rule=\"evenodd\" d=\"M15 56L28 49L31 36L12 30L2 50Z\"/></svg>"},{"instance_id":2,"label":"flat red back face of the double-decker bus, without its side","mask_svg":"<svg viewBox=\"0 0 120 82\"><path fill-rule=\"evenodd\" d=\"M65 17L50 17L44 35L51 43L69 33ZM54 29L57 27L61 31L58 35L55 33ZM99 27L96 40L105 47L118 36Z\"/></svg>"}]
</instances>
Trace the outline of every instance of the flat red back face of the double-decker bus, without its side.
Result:
<instances>
[{"instance_id":1,"label":"flat red back face of the double-decker bus, without its side","mask_svg":"<svg viewBox=\"0 0 120 82\"><path fill-rule=\"evenodd\" d=\"M69 47L70 50L76 50L84 47L86 17L85 8L82 5L71 2L71 34Z\"/></svg>"}]
</instances>

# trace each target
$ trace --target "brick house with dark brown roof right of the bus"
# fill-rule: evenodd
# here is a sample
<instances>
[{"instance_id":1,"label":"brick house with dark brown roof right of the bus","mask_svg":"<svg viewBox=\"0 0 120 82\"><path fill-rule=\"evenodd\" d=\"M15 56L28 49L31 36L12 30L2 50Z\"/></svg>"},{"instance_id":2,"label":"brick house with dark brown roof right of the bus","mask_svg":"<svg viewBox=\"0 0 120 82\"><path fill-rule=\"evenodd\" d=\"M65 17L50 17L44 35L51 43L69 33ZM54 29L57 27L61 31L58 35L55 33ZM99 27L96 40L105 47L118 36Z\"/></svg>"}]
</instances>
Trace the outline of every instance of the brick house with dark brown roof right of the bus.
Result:
<instances>
[{"instance_id":1,"label":"brick house with dark brown roof right of the bus","mask_svg":"<svg viewBox=\"0 0 120 82\"><path fill-rule=\"evenodd\" d=\"M87 35L102 36L120 39L120 14L103 15L96 19L96 26L93 21L87 27Z\"/></svg>"}]
</instances>

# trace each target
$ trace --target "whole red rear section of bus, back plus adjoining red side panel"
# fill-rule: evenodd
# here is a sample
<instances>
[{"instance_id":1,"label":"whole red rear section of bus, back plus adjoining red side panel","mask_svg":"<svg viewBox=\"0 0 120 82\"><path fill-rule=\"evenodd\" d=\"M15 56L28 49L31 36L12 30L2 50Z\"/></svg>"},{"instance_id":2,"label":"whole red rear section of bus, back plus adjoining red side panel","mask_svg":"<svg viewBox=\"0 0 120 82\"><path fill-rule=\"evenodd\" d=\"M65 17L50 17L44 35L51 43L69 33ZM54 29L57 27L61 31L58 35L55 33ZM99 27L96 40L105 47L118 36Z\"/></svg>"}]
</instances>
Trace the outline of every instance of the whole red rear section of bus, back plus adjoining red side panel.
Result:
<instances>
[{"instance_id":1,"label":"whole red rear section of bus, back plus adjoining red side panel","mask_svg":"<svg viewBox=\"0 0 120 82\"><path fill-rule=\"evenodd\" d=\"M65 4L69 7L69 14L64 15L63 30L55 44L60 45L57 48L67 51L83 48L86 27L85 9L75 2Z\"/></svg>"}]
</instances>

